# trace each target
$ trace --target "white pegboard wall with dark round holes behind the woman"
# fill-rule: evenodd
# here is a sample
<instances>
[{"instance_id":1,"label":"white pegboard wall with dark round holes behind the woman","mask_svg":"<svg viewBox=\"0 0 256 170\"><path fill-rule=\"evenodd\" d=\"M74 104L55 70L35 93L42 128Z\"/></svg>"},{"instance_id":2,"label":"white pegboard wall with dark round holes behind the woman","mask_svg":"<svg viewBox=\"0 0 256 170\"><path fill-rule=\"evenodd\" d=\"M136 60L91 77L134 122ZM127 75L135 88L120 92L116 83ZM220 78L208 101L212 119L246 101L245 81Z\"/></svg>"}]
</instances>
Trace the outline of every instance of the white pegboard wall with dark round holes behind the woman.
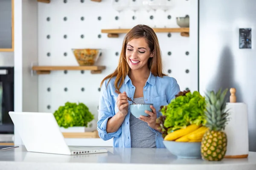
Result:
<instances>
[{"instance_id":1,"label":"white pegboard wall with dark round holes behind the woman","mask_svg":"<svg viewBox=\"0 0 256 170\"><path fill-rule=\"evenodd\" d=\"M64 3L66 2L66 3ZM189 0L171 0L172 8L166 13L140 11L143 24L152 25L154 18L163 18L169 28L177 28L176 17L190 14ZM125 11L124 23L133 22L133 11ZM143 13L144 12L144 13ZM112 8L111 0L101 3L90 0L51 0L51 3L38 3L38 64L39 65L78 65L72 48L101 48L102 56L96 65L105 65L102 74L90 71L52 71L39 75L39 112L54 112L65 102L83 102L97 119L99 85L101 80L117 67L119 53L125 34L119 38L108 38L101 29L119 28L116 20L118 12ZM168 17L171 16L171 17ZM120 19L121 17L119 17ZM170 18L170 19L168 19ZM154 19L153 19L154 20ZM161 23L161 22L158 22ZM127 25L126 25L127 26ZM130 26L135 26L131 25ZM166 74L175 77L181 90L192 86L189 37L180 33L157 33L162 51L163 67ZM93 126L96 127L96 121Z\"/></svg>"}]
</instances>

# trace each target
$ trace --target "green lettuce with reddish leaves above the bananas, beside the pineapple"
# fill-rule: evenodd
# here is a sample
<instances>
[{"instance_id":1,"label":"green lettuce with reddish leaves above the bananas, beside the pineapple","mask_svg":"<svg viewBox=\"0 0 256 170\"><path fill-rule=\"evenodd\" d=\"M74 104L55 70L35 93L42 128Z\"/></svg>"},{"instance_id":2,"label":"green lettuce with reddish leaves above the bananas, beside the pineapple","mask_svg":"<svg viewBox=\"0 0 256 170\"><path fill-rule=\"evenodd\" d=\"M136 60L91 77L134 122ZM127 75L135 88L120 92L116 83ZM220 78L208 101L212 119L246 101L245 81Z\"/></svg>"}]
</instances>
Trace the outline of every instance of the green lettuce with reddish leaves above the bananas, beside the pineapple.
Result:
<instances>
[{"instance_id":1,"label":"green lettuce with reddish leaves above the bananas, beside the pineapple","mask_svg":"<svg viewBox=\"0 0 256 170\"><path fill-rule=\"evenodd\" d=\"M205 109L206 100L198 91L180 92L169 105L161 107L163 115L157 119L158 130L164 138L168 133L186 128L188 125L205 125Z\"/></svg>"}]
</instances>

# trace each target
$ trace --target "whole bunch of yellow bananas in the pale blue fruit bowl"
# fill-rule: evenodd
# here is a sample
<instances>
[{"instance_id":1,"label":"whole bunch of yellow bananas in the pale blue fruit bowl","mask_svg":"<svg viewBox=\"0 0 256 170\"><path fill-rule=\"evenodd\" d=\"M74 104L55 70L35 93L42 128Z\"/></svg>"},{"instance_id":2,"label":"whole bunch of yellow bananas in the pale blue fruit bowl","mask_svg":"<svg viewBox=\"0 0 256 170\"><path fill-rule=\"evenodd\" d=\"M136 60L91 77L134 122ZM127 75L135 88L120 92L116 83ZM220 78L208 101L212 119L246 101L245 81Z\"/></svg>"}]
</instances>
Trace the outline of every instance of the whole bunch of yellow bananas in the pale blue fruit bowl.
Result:
<instances>
[{"instance_id":1,"label":"whole bunch of yellow bananas in the pale blue fruit bowl","mask_svg":"<svg viewBox=\"0 0 256 170\"><path fill-rule=\"evenodd\" d=\"M185 129L179 129L169 133L164 140L175 142L201 142L207 129L207 127L201 125L189 125Z\"/></svg>"}]
</instances>

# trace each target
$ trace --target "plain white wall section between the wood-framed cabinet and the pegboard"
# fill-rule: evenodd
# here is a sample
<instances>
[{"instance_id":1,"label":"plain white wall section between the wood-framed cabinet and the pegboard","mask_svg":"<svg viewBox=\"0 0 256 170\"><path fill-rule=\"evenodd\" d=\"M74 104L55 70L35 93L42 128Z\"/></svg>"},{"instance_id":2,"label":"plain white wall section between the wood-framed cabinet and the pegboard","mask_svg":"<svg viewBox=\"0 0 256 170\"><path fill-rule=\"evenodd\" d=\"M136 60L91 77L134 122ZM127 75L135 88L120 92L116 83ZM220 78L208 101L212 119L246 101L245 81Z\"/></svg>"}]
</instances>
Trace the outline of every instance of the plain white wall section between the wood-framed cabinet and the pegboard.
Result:
<instances>
[{"instance_id":1,"label":"plain white wall section between the wood-framed cabinet and the pegboard","mask_svg":"<svg viewBox=\"0 0 256 170\"><path fill-rule=\"evenodd\" d=\"M15 111L38 111L38 77L31 62L38 61L37 1L15 0ZM15 128L15 144L23 144Z\"/></svg>"}]
</instances>

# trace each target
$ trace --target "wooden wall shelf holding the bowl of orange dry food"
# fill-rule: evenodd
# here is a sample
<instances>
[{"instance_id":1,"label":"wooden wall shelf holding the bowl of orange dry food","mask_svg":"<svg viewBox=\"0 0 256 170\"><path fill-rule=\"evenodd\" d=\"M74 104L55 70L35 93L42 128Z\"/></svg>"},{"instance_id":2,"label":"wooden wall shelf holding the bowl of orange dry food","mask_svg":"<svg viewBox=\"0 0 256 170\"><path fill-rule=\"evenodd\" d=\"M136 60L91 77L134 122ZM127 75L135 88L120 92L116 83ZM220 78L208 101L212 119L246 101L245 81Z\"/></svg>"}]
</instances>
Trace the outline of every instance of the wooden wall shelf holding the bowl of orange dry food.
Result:
<instances>
[{"instance_id":1,"label":"wooden wall shelf holding the bowl of orange dry food","mask_svg":"<svg viewBox=\"0 0 256 170\"><path fill-rule=\"evenodd\" d=\"M90 70L91 74L99 74L102 70L105 70L106 66L33 66L32 70L37 74L50 74L51 71L59 70Z\"/></svg>"}]
</instances>

